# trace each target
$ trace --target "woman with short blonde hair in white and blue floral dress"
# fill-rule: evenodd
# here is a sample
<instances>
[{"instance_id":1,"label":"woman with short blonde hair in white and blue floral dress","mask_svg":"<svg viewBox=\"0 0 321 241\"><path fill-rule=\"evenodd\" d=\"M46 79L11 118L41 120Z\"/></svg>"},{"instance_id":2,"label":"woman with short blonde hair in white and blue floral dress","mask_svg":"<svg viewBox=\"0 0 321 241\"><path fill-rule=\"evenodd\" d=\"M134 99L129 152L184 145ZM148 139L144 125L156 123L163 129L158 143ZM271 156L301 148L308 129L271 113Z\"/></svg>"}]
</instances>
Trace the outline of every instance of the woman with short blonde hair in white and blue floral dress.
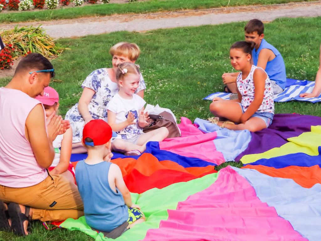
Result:
<instances>
[{"instance_id":1,"label":"woman with short blonde hair in white and blue floral dress","mask_svg":"<svg viewBox=\"0 0 321 241\"><path fill-rule=\"evenodd\" d=\"M73 129L72 153L83 153L86 149L82 146L82 130L86 123L94 119L107 122L106 106L111 98L118 93L115 71L118 65L124 62L135 63L140 54L140 49L135 43L120 42L111 47L112 68L100 68L93 71L82 83L82 95L79 102L67 113L66 120L70 121ZM143 98L146 88L143 76L140 75L139 86L135 94Z\"/></svg>"}]
</instances>

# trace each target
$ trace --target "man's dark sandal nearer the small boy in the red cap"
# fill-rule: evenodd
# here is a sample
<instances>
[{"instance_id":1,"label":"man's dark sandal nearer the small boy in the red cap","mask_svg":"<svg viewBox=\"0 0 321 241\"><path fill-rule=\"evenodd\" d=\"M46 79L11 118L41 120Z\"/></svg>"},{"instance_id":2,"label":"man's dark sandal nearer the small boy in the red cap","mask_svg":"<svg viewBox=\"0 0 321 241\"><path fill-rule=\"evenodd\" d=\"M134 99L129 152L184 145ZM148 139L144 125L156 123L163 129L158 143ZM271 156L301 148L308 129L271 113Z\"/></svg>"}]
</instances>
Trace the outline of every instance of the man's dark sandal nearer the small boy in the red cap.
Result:
<instances>
[{"instance_id":1,"label":"man's dark sandal nearer the small boy in the red cap","mask_svg":"<svg viewBox=\"0 0 321 241\"><path fill-rule=\"evenodd\" d=\"M30 207L26 206L25 208L26 208L25 213L22 213L19 207L19 204L11 202L8 205L8 211L11 218L11 229L13 233L18 236L27 235L23 228L24 221L28 221L27 230L30 229L31 227L31 224L30 224L31 219L29 218ZM28 234L30 234L29 231L28 231Z\"/></svg>"}]
</instances>

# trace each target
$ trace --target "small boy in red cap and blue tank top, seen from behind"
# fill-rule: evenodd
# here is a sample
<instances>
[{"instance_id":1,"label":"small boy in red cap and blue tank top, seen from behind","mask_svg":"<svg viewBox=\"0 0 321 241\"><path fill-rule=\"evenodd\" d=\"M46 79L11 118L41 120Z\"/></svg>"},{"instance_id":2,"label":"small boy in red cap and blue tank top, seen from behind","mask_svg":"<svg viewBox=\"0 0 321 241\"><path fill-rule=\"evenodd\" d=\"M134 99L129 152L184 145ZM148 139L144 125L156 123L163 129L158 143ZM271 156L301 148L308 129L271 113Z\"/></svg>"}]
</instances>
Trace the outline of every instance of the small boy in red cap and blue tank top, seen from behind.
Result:
<instances>
[{"instance_id":1,"label":"small boy in red cap and blue tank top, seen from behind","mask_svg":"<svg viewBox=\"0 0 321 241\"><path fill-rule=\"evenodd\" d=\"M102 232L110 232L126 221L128 228L145 221L139 206L132 203L120 168L110 162L110 139L115 134L103 120L88 122L82 137L88 157L79 161L75 170L86 222Z\"/></svg>"}]
</instances>

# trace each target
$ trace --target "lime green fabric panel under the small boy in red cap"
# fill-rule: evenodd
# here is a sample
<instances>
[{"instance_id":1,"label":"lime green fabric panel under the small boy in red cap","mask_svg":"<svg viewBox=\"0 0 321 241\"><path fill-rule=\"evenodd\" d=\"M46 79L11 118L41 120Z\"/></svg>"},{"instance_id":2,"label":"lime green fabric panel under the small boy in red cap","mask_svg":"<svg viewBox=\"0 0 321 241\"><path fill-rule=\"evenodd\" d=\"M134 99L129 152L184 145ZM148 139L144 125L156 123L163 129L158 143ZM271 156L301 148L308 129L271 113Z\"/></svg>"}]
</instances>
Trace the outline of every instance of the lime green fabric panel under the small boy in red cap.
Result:
<instances>
[{"instance_id":1,"label":"lime green fabric panel under the small boy in red cap","mask_svg":"<svg viewBox=\"0 0 321 241\"><path fill-rule=\"evenodd\" d=\"M174 183L162 189L153 188L139 195L131 193L132 200L141 207L147 221L137 224L116 240L144 239L148 229L159 228L160 220L168 219L168 209L175 210L179 201L185 201L188 196L208 188L216 181L217 176L218 173L213 173L188 182ZM84 216L76 220L66 219L60 226L70 230L80 230L95 238L96 241L108 240L101 233L92 231L86 224Z\"/></svg>"}]
</instances>

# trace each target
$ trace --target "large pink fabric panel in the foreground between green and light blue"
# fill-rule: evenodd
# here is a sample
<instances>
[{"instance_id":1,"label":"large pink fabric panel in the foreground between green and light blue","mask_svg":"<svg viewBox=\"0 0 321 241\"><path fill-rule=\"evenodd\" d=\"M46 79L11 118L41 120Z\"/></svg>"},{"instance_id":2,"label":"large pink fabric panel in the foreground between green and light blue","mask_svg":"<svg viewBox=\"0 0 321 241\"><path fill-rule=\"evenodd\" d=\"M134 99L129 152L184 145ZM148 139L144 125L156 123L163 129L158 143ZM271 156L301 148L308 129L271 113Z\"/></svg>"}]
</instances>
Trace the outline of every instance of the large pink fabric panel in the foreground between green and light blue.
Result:
<instances>
[{"instance_id":1,"label":"large pink fabric panel in the foreground between green and light blue","mask_svg":"<svg viewBox=\"0 0 321 241\"><path fill-rule=\"evenodd\" d=\"M245 178L230 167L209 188L168 210L168 220L150 229L147 240L307 241L289 221L257 197Z\"/></svg>"}]
</instances>

